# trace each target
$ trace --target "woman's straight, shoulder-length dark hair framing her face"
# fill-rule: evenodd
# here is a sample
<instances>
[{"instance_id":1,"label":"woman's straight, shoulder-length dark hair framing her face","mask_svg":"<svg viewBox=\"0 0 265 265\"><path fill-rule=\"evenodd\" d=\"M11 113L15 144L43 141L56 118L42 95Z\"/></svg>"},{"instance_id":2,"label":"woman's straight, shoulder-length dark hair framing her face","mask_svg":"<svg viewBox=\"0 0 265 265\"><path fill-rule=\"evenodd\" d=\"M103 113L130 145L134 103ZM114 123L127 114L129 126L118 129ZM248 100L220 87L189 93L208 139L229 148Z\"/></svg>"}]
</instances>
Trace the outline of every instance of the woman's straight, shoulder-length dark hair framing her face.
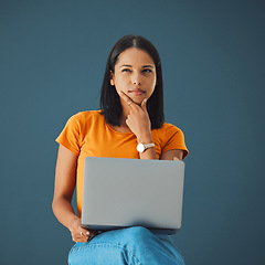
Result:
<instances>
[{"instance_id":1,"label":"woman's straight, shoulder-length dark hair framing her face","mask_svg":"<svg viewBox=\"0 0 265 265\"><path fill-rule=\"evenodd\" d=\"M161 61L153 44L140 35L130 34L123 36L109 53L100 93L102 114L107 124L120 126L119 120L123 114L123 107L115 86L110 85L110 71L114 73L119 54L132 46L146 51L156 65L157 84L152 95L147 100L147 110L151 121L151 128L158 129L162 127L165 121Z\"/></svg>"}]
</instances>

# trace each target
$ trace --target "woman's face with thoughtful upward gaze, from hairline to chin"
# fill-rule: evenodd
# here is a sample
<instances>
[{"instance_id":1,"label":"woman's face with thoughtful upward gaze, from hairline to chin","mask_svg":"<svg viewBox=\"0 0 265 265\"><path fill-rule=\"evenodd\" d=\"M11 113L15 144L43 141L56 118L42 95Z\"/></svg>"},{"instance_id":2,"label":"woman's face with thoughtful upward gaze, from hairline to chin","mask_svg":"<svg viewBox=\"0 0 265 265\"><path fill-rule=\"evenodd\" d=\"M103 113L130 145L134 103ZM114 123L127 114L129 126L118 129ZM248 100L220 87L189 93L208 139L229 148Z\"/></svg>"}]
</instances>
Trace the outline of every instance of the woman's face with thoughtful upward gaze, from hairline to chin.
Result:
<instances>
[{"instance_id":1,"label":"woman's face with thoughtful upward gaze, from hairline to chin","mask_svg":"<svg viewBox=\"0 0 265 265\"><path fill-rule=\"evenodd\" d=\"M110 85L115 85L117 92L123 91L139 105L155 91L156 65L151 56L142 50L129 47L121 52L114 72L110 73Z\"/></svg>"}]
</instances>

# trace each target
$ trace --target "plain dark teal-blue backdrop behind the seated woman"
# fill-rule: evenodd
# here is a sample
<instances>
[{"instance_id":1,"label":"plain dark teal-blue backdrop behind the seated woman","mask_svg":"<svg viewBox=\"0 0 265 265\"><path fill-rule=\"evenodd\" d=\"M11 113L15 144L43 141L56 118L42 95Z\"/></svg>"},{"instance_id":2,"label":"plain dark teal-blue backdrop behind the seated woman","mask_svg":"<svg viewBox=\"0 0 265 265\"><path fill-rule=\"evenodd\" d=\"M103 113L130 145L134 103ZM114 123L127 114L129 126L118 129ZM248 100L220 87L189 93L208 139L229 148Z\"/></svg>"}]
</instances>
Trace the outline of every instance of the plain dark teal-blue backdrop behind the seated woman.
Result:
<instances>
[{"instance_id":1,"label":"plain dark teal-blue backdrop behind the seated woman","mask_svg":"<svg viewBox=\"0 0 265 265\"><path fill-rule=\"evenodd\" d=\"M188 265L265 264L264 1L0 1L0 264L66 264L51 209L67 118L99 107L108 53L125 34L158 49L166 119L186 159Z\"/></svg>"}]
</instances>

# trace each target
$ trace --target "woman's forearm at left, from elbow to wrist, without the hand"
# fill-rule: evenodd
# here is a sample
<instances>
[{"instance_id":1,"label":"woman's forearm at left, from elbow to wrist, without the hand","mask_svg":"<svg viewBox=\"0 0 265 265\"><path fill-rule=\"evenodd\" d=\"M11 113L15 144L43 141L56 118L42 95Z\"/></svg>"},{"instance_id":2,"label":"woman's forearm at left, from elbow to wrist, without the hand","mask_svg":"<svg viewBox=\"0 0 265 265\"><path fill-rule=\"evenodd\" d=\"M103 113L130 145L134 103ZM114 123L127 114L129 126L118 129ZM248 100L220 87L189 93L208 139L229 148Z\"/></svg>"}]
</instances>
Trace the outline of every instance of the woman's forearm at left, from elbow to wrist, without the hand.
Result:
<instances>
[{"instance_id":1,"label":"woman's forearm at left, from elbow to wrist, without the hand","mask_svg":"<svg viewBox=\"0 0 265 265\"><path fill-rule=\"evenodd\" d=\"M78 219L74 213L71 202L66 198L54 199L52 209L59 222L71 231L73 222Z\"/></svg>"}]
</instances>

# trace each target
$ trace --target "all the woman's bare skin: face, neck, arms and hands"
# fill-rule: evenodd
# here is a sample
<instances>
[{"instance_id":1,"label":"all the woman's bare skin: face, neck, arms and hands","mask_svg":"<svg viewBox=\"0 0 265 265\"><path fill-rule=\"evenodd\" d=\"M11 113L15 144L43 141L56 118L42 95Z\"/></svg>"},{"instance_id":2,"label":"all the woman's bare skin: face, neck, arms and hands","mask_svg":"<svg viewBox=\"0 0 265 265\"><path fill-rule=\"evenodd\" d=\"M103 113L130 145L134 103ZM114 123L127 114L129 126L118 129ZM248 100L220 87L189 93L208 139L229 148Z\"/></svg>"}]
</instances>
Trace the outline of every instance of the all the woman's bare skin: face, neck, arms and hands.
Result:
<instances>
[{"instance_id":1,"label":"all the woman's bare skin: face, neck, arms and hands","mask_svg":"<svg viewBox=\"0 0 265 265\"><path fill-rule=\"evenodd\" d=\"M152 59L142 50L127 49L119 54L114 72L109 73L109 82L116 87L123 106L120 126L114 126L114 129L120 132L132 131L138 142L152 142L151 124L146 108L157 82ZM182 160L182 157L183 151L176 149L163 152L160 159ZM75 215L71 204L77 158L78 156L60 145L52 209L57 220L70 230L74 242L87 242L89 236L97 233L81 226L81 219ZM155 148L140 153L140 159L158 159Z\"/></svg>"}]
</instances>

